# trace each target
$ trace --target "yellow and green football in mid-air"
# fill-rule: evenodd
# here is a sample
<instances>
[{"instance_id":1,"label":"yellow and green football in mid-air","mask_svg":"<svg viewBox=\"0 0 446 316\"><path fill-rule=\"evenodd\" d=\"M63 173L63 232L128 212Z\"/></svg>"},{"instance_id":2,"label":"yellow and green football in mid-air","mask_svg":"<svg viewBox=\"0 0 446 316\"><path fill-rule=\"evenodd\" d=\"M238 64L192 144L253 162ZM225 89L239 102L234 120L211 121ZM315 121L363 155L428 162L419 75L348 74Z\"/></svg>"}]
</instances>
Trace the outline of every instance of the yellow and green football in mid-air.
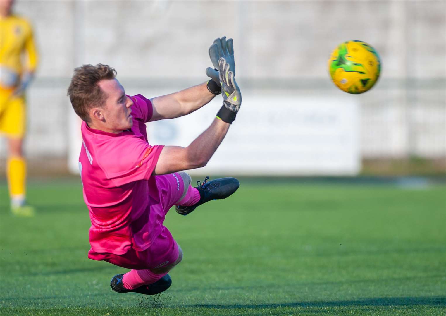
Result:
<instances>
[{"instance_id":1,"label":"yellow and green football in mid-air","mask_svg":"<svg viewBox=\"0 0 446 316\"><path fill-rule=\"evenodd\" d=\"M343 42L331 53L328 71L331 80L342 91L363 93L370 90L380 76L380 56L366 42Z\"/></svg>"}]
</instances>

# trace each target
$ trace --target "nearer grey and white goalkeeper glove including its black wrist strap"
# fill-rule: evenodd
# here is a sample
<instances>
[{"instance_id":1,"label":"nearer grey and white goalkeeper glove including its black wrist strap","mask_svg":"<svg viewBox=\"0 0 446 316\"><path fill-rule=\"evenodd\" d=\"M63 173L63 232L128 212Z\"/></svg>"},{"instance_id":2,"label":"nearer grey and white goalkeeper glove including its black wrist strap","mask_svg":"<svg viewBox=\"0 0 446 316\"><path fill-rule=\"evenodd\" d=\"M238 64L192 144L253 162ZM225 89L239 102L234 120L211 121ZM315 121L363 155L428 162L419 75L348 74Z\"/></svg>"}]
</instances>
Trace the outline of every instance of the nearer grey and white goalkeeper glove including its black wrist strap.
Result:
<instances>
[{"instance_id":1,"label":"nearer grey and white goalkeeper glove including its black wrist strap","mask_svg":"<svg viewBox=\"0 0 446 316\"><path fill-rule=\"evenodd\" d=\"M235 120L235 115L240 110L242 104L242 94L235 82L234 73L225 58L219 59L219 81L223 96L223 106L217 113L217 118L231 124Z\"/></svg>"}]
</instances>

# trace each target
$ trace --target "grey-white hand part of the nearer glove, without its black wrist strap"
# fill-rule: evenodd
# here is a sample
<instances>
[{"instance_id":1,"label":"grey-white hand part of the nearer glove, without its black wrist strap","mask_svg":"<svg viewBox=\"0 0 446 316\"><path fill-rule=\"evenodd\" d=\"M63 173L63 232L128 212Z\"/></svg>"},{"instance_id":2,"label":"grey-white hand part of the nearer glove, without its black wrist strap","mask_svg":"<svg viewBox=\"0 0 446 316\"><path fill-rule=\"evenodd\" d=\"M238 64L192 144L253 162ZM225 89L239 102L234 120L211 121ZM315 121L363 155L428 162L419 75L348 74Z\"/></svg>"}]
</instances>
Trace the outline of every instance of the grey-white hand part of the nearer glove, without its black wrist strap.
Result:
<instances>
[{"instance_id":1,"label":"grey-white hand part of the nearer glove, without its black wrist strap","mask_svg":"<svg viewBox=\"0 0 446 316\"><path fill-rule=\"evenodd\" d=\"M223 105L232 112L239 112L242 104L242 94L240 88L235 82L234 72L230 70L231 65L226 59L219 59L219 79L222 86Z\"/></svg>"}]
</instances>

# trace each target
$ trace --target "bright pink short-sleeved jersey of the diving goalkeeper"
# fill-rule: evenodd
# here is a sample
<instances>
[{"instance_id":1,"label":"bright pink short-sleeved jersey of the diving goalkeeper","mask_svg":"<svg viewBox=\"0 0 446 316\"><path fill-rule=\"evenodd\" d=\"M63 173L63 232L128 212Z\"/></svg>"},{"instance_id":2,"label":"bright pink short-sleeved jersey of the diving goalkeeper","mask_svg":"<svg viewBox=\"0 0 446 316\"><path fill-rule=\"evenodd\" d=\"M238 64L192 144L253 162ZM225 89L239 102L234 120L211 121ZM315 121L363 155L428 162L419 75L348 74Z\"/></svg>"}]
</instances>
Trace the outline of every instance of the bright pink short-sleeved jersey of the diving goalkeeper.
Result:
<instances>
[{"instance_id":1,"label":"bright pink short-sleeved jersey of the diving goalkeeper","mask_svg":"<svg viewBox=\"0 0 446 316\"><path fill-rule=\"evenodd\" d=\"M153 114L150 100L140 94L129 97L131 131L107 133L82 122L79 169L95 252L124 254L131 247L143 251L162 230L164 218L151 214L150 205L160 199L151 175L163 146L150 146L147 140L144 123Z\"/></svg>"}]
</instances>

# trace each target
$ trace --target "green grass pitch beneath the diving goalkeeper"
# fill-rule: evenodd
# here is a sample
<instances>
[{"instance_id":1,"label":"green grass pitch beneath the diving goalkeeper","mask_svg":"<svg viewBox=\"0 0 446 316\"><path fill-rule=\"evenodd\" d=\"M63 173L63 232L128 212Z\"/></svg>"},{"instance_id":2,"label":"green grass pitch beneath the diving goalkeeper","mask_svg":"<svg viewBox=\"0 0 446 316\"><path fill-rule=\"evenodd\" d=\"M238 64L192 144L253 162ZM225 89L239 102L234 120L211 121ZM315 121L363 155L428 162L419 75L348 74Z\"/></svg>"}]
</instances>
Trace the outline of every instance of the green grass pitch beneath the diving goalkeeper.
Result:
<instances>
[{"instance_id":1,"label":"green grass pitch beneath the diving goalkeeper","mask_svg":"<svg viewBox=\"0 0 446 316\"><path fill-rule=\"evenodd\" d=\"M0 315L445 315L446 187L241 182L165 225L172 286L118 294L87 259L79 180L30 182L34 218L0 184Z\"/></svg>"}]
</instances>

